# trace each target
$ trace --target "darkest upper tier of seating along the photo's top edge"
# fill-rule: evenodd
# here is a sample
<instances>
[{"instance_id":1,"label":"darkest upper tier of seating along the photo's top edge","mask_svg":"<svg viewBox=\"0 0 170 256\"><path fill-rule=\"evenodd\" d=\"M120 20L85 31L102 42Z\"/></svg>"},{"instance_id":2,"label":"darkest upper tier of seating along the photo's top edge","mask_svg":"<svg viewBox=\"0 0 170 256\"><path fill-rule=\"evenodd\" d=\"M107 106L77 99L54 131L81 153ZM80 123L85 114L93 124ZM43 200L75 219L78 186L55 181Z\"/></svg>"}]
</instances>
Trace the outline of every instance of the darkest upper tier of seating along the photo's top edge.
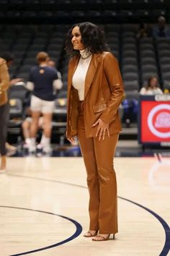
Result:
<instances>
[{"instance_id":1,"label":"darkest upper tier of seating along the photo's top edge","mask_svg":"<svg viewBox=\"0 0 170 256\"><path fill-rule=\"evenodd\" d=\"M169 0L1 0L0 8L0 20L22 23L156 22L168 14Z\"/></svg>"}]
</instances>

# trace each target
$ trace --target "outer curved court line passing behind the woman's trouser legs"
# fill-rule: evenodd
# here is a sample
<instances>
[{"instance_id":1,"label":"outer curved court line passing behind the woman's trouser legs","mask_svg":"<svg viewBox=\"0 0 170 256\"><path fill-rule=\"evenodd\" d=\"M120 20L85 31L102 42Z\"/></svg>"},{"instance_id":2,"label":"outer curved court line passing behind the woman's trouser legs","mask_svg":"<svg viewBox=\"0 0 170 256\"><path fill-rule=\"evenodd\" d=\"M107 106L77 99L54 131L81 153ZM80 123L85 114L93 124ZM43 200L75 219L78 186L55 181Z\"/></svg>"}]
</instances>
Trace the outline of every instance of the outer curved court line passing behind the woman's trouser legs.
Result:
<instances>
[{"instance_id":1,"label":"outer curved court line passing behind the woman's trouser legs","mask_svg":"<svg viewBox=\"0 0 170 256\"><path fill-rule=\"evenodd\" d=\"M68 182L60 182L60 181L55 181L55 180L51 180L51 179L42 179L42 178L37 178L37 177L22 176L22 175L15 175L15 174L9 174L9 175L10 176L18 176L18 177L27 178L27 179L39 179L39 180L45 181L45 182L55 182L55 183L70 185L70 186L73 186L73 187L81 187L83 189L87 189L87 187L85 187L85 186L81 186L81 185L78 185L78 184L72 184L72 183L68 183ZM164 247L163 247L160 255L158 255L158 256L166 256L166 255L168 255L169 250L170 250L170 228L169 228L168 223L166 223L166 221L164 221L164 219L161 218L161 216L158 216L157 213L154 213L152 210L146 208L143 205L140 205L138 202L134 202L134 201L129 200L129 199L125 198L125 197L118 196L118 198L120 198L122 200L126 200L128 202L131 202L134 205L138 205L140 208L143 208L144 210L148 211L148 213L151 213L151 215L154 216L161 223L161 226L163 226L165 234L166 234L166 239L165 239ZM11 256L15 256L15 255L11 255Z\"/></svg>"}]
</instances>

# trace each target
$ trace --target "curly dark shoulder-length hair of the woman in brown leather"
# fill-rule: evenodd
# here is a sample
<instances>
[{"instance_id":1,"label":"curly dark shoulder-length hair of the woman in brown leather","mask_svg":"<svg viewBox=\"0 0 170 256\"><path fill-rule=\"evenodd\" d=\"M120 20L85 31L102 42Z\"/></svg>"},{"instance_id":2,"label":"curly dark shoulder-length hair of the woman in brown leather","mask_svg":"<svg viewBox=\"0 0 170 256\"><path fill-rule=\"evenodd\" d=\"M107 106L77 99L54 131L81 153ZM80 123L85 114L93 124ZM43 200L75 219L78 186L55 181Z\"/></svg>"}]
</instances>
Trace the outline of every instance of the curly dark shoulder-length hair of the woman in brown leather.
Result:
<instances>
[{"instance_id":1,"label":"curly dark shoulder-length hair of the woman in brown leather","mask_svg":"<svg viewBox=\"0 0 170 256\"><path fill-rule=\"evenodd\" d=\"M75 24L68 30L66 35L66 52L71 55L79 55L79 50L74 50L71 43L72 30L74 27L79 27L81 33L81 43L84 44L84 48L91 51L92 54L102 53L103 51L109 51L109 47L106 43L104 32L99 27L91 22L82 22Z\"/></svg>"}]
</instances>

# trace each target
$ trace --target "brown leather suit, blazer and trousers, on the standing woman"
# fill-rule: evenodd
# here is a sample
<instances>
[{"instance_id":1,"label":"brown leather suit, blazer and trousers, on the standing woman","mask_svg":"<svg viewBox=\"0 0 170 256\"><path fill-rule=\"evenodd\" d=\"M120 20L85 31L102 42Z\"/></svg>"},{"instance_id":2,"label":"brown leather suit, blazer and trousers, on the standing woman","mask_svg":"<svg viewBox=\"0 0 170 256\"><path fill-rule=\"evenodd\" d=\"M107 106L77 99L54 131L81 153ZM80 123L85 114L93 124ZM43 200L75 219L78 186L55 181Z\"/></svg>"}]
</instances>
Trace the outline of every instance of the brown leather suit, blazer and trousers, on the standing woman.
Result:
<instances>
[{"instance_id":1,"label":"brown leather suit, blazer and trousers, on the standing woman","mask_svg":"<svg viewBox=\"0 0 170 256\"><path fill-rule=\"evenodd\" d=\"M67 136L78 135L89 187L90 230L101 234L117 233L117 185L113 158L121 130L118 107L124 98L122 77L117 59L109 52L93 54L86 74L84 107L72 86L79 57L68 66ZM97 119L109 123L110 137L99 142L95 137Z\"/></svg>"}]
</instances>

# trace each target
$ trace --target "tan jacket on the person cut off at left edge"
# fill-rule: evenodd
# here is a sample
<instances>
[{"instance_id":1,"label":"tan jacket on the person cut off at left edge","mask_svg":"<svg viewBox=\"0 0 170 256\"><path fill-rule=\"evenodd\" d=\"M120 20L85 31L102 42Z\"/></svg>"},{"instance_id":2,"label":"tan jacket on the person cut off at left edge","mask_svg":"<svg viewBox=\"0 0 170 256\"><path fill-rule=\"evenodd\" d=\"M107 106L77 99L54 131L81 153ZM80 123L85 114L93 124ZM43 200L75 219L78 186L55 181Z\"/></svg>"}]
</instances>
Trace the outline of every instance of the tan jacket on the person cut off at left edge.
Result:
<instances>
[{"instance_id":1,"label":"tan jacket on the person cut off at left edge","mask_svg":"<svg viewBox=\"0 0 170 256\"><path fill-rule=\"evenodd\" d=\"M6 61L0 58L0 106L8 101L9 72Z\"/></svg>"}]
</instances>

